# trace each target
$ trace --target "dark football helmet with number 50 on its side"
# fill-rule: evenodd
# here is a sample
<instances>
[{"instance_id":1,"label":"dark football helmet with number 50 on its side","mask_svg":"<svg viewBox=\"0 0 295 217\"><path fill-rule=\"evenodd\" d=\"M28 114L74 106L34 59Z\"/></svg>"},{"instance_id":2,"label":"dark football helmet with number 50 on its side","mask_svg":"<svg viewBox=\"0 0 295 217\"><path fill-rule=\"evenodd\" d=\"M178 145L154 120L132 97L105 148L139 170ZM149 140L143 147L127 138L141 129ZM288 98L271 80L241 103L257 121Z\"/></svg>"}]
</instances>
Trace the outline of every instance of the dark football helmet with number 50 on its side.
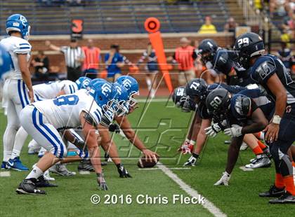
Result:
<instances>
[{"instance_id":1,"label":"dark football helmet with number 50 on its side","mask_svg":"<svg viewBox=\"0 0 295 217\"><path fill-rule=\"evenodd\" d=\"M206 107L209 114L225 119L230 109L230 99L232 95L224 88L212 90L206 97Z\"/></svg>"}]
</instances>

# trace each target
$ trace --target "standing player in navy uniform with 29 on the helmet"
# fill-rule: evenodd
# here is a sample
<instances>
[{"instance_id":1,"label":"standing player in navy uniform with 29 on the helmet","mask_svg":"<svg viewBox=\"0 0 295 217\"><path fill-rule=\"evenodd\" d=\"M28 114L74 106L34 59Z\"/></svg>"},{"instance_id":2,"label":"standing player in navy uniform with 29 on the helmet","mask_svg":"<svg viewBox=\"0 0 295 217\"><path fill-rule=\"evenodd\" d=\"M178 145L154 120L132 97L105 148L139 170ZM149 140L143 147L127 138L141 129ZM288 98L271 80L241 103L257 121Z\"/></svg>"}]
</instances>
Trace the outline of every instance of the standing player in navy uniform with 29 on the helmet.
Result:
<instances>
[{"instance_id":1,"label":"standing player in navy uniform with 29 on the helmet","mask_svg":"<svg viewBox=\"0 0 295 217\"><path fill-rule=\"evenodd\" d=\"M261 197L279 197L270 203L295 203L293 169L287 151L295 141L295 83L282 61L264 55L261 36L242 34L235 41L237 60L249 72L251 80L265 88L275 102L275 113L265 127L265 140L272 145L270 152L275 162L275 185L261 193Z\"/></svg>"}]
</instances>

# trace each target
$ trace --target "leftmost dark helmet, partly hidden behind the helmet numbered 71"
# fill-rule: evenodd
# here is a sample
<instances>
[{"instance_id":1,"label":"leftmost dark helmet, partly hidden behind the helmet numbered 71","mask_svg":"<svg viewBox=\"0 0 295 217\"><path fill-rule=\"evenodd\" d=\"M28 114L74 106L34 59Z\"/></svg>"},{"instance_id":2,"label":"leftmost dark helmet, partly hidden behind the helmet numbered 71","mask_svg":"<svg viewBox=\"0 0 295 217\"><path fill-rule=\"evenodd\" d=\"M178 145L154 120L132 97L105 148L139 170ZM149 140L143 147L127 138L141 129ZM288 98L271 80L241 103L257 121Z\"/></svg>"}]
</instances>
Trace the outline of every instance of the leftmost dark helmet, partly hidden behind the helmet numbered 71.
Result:
<instances>
[{"instance_id":1,"label":"leftmost dark helmet, partly hidden behind the helmet numbered 71","mask_svg":"<svg viewBox=\"0 0 295 217\"><path fill-rule=\"evenodd\" d=\"M185 94L185 87L176 87L172 93L172 100L178 108L185 112L195 111L196 103Z\"/></svg>"}]
</instances>

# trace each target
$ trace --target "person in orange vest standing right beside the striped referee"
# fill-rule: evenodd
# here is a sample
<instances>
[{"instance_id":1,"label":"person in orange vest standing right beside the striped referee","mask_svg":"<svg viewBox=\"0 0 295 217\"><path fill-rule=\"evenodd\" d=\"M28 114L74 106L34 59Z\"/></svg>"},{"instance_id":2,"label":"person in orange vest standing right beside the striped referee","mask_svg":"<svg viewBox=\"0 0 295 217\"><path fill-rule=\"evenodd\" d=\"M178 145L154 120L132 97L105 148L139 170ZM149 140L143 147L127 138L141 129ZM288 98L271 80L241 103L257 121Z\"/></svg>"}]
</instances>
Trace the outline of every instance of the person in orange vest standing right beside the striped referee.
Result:
<instances>
[{"instance_id":1,"label":"person in orange vest standing right beside the striped referee","mask_svg":"<svg viewBox=\"0 0 295 217\"><path fill-rule=\"evenodd\" d=\"M100 48L94 47L93 40L89 39L87 46L82 47L82 50L85 56L83 64L84 75L91 79L97 78L101 59Z\"/></svg>"}]
</instances>

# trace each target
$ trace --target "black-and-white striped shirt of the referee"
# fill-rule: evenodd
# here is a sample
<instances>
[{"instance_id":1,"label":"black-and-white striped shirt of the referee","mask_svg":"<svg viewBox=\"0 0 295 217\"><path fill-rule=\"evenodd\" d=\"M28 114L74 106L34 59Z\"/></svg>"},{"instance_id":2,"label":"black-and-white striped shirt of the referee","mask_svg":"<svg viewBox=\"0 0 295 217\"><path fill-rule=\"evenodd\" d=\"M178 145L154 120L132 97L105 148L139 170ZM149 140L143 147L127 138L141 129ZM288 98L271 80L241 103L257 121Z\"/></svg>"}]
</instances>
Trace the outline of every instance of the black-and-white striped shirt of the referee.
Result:
<instances>
[{"instance_id":1,"label":"black-and-white striped shirt of the referee","mask_svg":"<svg viewBox=\"0 0 295 217\"><path fill-rule=\"evenodd\" d=\"M81 62L77 59L84 58L84 52L80 47L71 48L70 46L63 46L60 51L65 55L65 64L68 67L77 68L81 66Z\"/></svg>"}]
</instances>

